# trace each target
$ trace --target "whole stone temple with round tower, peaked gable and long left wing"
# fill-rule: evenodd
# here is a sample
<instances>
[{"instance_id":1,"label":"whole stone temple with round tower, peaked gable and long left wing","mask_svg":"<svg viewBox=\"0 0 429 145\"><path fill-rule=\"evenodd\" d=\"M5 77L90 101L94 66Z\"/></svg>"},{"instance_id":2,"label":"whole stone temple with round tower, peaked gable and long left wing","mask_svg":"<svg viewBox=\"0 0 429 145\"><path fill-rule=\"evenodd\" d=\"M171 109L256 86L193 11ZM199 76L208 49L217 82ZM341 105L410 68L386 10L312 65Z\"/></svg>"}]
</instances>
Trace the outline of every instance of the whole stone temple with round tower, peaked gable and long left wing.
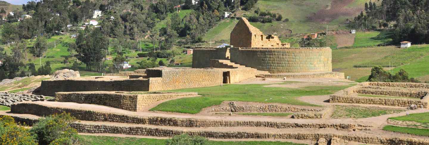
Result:
<instances>
[{"instance_id":1,"label":"whole stone temple with round tower, peaked gable and long left wing","mask_svg":"<svg viewBox=\"0 0 429 145\"><path fill-rule=\"evenodd\" d=\"M332 72L331 48L290 48L277 36L264 35L242 18L231 32L231 45L193 49L192 68L158 67L134 72L42 81L40 94L76 91L164 91L236 83L255 77L344 79ZM128 76L115 77L115 76Z\"/></svg>"}]
</instances>

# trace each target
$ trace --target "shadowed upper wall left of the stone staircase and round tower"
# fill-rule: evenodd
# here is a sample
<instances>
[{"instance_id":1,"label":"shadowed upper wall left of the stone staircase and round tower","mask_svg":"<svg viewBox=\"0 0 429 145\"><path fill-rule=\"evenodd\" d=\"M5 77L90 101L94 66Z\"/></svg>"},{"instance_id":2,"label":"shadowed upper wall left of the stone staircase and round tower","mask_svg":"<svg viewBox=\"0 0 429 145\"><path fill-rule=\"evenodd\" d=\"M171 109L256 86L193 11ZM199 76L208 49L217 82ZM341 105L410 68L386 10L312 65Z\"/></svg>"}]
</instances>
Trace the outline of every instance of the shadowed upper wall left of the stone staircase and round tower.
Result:
<instances>
[{"instance_id":1,"label":"shadowed upper wall left of the stone staircase and round tower","mask_svg":"<svg viewBox=\"0 0 429 145\"><path fill-rule=\"evenodd\" d=\"M203 48L193 49L192 67L206 68L210 67L210 60L229 60L230 48Z\"/></svg>"}]
</instances>

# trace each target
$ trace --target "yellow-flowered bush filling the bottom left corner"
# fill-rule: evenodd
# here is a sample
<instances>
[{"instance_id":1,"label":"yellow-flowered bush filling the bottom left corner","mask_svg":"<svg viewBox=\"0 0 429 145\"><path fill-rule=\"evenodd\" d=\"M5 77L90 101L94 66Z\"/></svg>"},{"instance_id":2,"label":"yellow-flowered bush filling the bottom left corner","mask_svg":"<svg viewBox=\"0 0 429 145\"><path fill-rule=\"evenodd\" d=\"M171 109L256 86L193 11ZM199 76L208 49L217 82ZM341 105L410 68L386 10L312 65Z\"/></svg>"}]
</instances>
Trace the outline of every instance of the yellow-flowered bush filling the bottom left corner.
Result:
<instances>
[{"instance_id":1,"label":"yellow-flowered bush filling the bottom left corner","mask_svg":"<svg viewBox=\"0 0 429 145\"><path fill-rule=\"evenodd\" d=\"M10 116L0 118L0 145L37 145L28 129L18 126Z\"/></svg>"}]
</instances>

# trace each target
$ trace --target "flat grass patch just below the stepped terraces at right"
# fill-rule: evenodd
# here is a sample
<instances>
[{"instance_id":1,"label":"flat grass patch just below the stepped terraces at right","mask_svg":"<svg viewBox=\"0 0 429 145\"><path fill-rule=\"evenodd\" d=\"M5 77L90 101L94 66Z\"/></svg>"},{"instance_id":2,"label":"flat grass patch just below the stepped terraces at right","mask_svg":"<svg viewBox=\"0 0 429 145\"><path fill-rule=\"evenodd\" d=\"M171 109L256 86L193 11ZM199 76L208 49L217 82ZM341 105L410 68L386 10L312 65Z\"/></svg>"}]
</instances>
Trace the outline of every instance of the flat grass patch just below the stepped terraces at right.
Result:
<instances>
[{"instance_id":1,"label":"flat grass patch just below the stepped terraces at right","mask_svg":"<svg viewBox=\"0 0 429 145\"><path fill-rule=\"evenodd\" d=\"M386 114L403 112L405 110L381 109L360 106L334 106L331 118L369 118Z\"/></svg>"}]
</instances>

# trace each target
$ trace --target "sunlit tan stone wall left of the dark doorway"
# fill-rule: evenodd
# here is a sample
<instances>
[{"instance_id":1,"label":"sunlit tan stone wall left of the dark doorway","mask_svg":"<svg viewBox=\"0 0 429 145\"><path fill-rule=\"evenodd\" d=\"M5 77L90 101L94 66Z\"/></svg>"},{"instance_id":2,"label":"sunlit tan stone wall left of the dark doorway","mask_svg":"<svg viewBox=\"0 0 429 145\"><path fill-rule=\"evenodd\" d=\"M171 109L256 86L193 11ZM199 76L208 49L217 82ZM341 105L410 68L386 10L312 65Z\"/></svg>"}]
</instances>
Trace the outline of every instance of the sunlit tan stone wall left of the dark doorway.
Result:
<instances>
[{"instance_id":1,"label":"sunlit tan stone wall left of the dark doorway","mask_svg":"<svg viewBox=\"0 0 429 145\"><path fill-rule=\"evenodd\" d=\"M151 68L146 72L154 70L160 70L162 78L151 78L149 91L208 87L221 85L223 81L220 69Z\"/></svg>"}]
</instances>

